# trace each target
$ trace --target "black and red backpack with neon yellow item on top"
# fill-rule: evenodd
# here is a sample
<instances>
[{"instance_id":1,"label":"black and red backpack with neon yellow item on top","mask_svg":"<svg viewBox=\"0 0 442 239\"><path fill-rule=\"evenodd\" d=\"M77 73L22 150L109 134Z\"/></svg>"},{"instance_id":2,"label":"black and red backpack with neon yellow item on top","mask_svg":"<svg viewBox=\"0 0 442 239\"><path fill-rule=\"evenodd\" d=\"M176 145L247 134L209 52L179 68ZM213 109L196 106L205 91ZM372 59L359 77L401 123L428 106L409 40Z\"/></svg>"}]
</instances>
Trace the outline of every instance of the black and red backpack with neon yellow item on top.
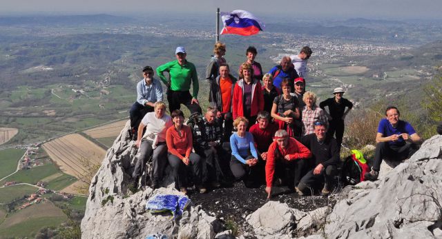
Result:
<instances>
[{"instance_id":1,"label":"black and red backpack with neon yellow item on top","mask_svg":"<svg viewBox=\"0 0 442 239\"><path fill-rule=\"evenodd\" d=\"M365 180L365 173L369 171L367 160L363 154L356 150L352 150L352 155L345 159L342 168L342 179L347 185L356 185Z\"/></svg>"}]
</instances>

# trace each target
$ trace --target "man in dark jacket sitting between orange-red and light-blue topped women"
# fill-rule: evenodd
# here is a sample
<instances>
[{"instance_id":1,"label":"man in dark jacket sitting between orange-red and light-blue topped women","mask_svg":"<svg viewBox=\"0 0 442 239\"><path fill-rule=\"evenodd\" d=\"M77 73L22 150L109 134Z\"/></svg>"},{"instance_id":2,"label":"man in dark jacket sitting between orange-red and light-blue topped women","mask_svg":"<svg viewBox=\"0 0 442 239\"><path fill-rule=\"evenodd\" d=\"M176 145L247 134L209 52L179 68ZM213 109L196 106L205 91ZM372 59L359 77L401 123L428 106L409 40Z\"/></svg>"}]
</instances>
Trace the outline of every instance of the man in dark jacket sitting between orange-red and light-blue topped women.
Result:
<instances>
[{"instance_id":1,"label":"man in dark jacket sitting between orange-red and light-blue topped women","mask_svg":"<svg viewBox=\"0 0 442 239\"><path fill-rule=\"evenodd\" d=\"M222 171L220 166L220 153L222 153L222 127L216 120L217 110L209 107L204 115L204 121L193 127L193 148L202 158L204 183L211 183L211 187L220 187ZM204 162L204 161L203 161Z\"/></svg>"}]
</instances>

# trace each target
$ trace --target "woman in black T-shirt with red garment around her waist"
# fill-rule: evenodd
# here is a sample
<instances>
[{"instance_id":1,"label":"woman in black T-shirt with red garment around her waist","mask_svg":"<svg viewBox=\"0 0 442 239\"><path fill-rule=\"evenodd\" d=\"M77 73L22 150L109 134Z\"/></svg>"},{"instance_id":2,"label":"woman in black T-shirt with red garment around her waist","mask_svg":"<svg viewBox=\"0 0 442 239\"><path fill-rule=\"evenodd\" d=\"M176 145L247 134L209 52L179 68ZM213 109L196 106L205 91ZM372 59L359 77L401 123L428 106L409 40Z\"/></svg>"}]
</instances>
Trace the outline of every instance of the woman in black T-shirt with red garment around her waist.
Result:
<instances>
[{"instance_id":1,"label":"woman in black T-shirt with red garment around her waist","mask_svg":"<svg viewBox=\"0 0 442 239\"><path fill-rule=\"evenodd\" d=\"M285 129L289 136L295 136L295 120L299 118L298 98L292 96L289 79L281 82L282 94L276 96L271 107L271 116L279 129Z\"/></svg>"}]
</instances>

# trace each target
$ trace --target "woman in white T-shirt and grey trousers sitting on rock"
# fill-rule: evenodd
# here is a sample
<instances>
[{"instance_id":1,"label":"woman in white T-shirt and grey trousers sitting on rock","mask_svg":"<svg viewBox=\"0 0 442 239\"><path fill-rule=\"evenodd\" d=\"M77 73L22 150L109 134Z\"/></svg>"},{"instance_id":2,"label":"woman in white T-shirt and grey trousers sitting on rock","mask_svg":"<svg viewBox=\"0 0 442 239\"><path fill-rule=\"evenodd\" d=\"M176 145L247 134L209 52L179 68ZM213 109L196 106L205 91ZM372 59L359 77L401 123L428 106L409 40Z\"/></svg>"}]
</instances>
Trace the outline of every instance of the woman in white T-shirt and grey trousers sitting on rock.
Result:
<instances>
[{"instance_id":1,"label":"woman in white T-shirt and grey trousers sitting on rock","mask_svg":"<svg viewBox=\"0 0 442 239\"><path fill-rule=\"evenodd\" d=\"M153 178L152 188L160 187L160 180L166 166L166 131L172 126L171 116L164 114L166 112L166 104L162 101L155 103L154 111L147 113L138 127L138 135L136 145L140 150L140 156L135 163L135 169L132 177L135 180L135 188L137 187L138 179L144 171L146 160L152 155L153 164ZM146 133L143 130L146 128Z\"/></svg>"}]
</instances>

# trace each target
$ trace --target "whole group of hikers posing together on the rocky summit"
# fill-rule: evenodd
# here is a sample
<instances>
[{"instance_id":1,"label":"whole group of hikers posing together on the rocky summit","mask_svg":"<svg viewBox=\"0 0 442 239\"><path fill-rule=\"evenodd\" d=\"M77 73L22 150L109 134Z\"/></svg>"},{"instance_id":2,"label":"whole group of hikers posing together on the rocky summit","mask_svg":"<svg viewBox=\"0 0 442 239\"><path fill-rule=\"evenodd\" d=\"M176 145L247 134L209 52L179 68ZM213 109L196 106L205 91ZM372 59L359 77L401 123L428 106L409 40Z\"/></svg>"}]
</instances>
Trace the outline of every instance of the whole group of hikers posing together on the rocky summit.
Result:
<instances>
[{"instance_id":1,"label":"whole group of hikers posing together on the rocky summit","mask_svg":"<svg viewBox=\"0 0 442 239\"><path fill-rule=\"evenodd\" d=\"M282 57L268 73L255 61L258 52L250 46L239 67L239 80L224 59L226 45L215 43L213 53L206 67L211 106L204 115L198 75L195 65L186 60L184 47L176 48L175 61L157 67L161 81L153 78L152 67L143 68L130 111L129 133L140 151L132 175L135 187L152 157L153 189L160 187L169 162L175 188L184 194L190 183L203 194L207 187L243 180L246 187L265 183L269 198L272 188L280 185L299 195L322 187L320 194L329 195L340 162L345 116L353 107L343 98L343 88L336 87L334 97L319 105L316 94L305 91L312 54L308 46L297 55ZM170 116L161 82L166 85ZM182 104L191 112L186 124ZM378 126L374 164L365 174L368 180L377 179L383 158L402 160L421 143L413 127L399 120L396 107L387 107L385 116Z\"/></svg>"}]
</instances>

